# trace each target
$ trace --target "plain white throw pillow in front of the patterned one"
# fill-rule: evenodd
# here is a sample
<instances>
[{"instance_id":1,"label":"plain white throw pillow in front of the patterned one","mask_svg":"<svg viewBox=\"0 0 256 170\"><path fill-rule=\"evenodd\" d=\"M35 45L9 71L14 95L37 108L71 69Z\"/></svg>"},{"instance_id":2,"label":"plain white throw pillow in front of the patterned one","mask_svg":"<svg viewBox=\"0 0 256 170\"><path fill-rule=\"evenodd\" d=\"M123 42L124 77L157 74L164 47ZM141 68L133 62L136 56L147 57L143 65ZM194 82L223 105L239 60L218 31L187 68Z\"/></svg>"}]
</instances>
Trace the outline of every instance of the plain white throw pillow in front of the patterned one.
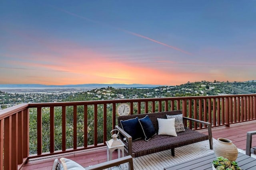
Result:
<instances>
[{"instance_id":1,"label":"plain white throw pillow in front of the patterned one","mask_svg":"<svg viewBox=\"0 0 256 170\"><path fill-rule=\"evenodd\" d=\"M177 136L175 130L175 118L172 119L160 119L158 121L158 135L170 135Z\"/></svg>"}]
</instances>

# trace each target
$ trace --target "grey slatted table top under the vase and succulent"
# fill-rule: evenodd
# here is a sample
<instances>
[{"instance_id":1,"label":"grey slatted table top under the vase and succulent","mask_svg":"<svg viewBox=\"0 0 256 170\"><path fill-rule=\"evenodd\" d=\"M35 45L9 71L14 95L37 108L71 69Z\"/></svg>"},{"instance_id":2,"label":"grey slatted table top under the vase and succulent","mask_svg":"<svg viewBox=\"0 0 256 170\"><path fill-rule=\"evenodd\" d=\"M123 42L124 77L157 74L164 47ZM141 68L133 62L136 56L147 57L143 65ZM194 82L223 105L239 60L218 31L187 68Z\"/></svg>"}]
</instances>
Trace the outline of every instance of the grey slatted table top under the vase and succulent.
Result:
<instances>
[{"instance_id":1,"label":"grey slatted table top under the vase and succulent","mask_svg":"<svg viewBox=\"0 0 256 170\"><path fill-rule=\"evenodd\" d=\"M212 161L216 159L214 153L207 154L192 160L175 164L164 168L164 170L212 170ZM238 166L243 170L256 170L256 159L242 153L238 153L236 159Z\"/></svg>"}]
</instances>

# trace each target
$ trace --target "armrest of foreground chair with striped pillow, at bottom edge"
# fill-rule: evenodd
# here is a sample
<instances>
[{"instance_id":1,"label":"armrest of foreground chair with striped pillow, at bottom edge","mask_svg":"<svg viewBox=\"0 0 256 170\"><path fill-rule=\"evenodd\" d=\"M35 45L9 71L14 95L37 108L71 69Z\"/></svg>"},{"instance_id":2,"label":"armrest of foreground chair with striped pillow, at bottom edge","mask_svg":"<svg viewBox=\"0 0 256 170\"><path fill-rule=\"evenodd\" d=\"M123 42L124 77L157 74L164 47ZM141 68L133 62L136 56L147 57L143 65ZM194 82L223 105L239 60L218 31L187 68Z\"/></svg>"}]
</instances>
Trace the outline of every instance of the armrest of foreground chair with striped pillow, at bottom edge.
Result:
<instances>
[{"instance_id":1,"label":"armrest of foreground chair with striped pillow, at bottom edge","mask_svg":"<svg viewBox=\"0 0 256 170\"><path fill-rule=\"evenodd\" d=\"M130 156L130 155L124 156L122 158L110 160L108 162L102 162L100 164L96 164L96 165L93 165L93 166L88 166L84 169L85 170L103 170L103 169L106 169L106 168L110 168L110 167L113 167L113 166L118 166L120 164L124 164L126 162L129 162L129 170L133 170L133 160L132 160L132 156Z\"/></svg>"}]
</instances>

